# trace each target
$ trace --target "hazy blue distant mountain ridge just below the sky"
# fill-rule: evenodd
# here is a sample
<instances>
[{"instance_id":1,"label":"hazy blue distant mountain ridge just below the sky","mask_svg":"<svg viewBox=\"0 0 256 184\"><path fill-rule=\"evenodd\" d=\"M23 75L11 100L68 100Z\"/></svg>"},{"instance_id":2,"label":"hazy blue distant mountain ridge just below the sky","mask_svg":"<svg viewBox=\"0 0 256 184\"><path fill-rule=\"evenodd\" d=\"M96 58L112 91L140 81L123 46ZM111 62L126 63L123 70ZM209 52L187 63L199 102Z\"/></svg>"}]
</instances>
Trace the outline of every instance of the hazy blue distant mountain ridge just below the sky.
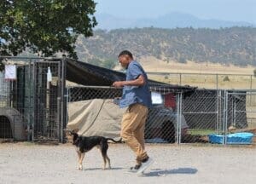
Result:
<instances>
[{"instance_id":1,"label":"hazy blue distant mountain ridge just below the sky","mask_svg":"<svg viewBox=\"0 0 256 184\"><path fill-rule=\"evenodd\" d=\"M96 20L98 21L97 29L113 30L119 28L143 28L143 27L158 27L158 28L221 28L232 26L256 26L253 23L243 21L228 21L228 20L202 20L191 14L183 14L173 12L160 16L158 18L151 19L125 19L117 18L110 14L96 14Z\"/></svg>"}]
</instances>

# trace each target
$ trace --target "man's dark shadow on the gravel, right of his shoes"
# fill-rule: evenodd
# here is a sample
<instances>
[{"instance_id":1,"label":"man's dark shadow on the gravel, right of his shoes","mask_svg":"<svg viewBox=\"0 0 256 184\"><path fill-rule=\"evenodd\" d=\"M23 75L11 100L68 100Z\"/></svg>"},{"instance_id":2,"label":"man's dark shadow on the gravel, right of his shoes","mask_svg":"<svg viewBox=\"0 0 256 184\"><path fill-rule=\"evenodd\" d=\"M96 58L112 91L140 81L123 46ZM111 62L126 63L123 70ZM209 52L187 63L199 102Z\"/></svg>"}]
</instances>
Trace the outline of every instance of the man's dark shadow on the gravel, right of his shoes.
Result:
<instances>
[{"instance_id":1,"label":"man's dark shadow on the gravel, right of his shoes","mask_svg":"<svg viewBox=\"0 0 256 184\"><path fill-rule=\"evenodd\" d=\"M166 176L166 175L195 175L197 173L197 169L195 168L178 168L172 170L160 170L154 169L150 170L148 173L145 173L143 176Z\"/></svg>"}]
</instances>

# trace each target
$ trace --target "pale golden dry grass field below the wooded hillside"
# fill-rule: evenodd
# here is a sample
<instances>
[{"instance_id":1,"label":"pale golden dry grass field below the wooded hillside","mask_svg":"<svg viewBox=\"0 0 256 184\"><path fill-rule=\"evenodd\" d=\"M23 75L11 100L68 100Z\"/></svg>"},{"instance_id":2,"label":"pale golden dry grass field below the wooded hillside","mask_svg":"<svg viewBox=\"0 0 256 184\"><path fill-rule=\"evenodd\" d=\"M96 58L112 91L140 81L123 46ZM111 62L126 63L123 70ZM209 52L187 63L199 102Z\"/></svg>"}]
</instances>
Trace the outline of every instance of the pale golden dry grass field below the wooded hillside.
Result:
<instances>
[{"instance_id":1,"label":"pale golden dry grass field below the wooded hillside","mask_svg":"<svg viewBox=\"0 0 256 184\"><path fill-rule=\"evenodd\" d=\"M253 66L223 66L212 63L195 63L188 61L186 64L177 62L164 62L154 57L145 57L140 60L147 72L170 72L172 74L153 75L149 78L164 83L196 86L199 88L216 89L256 89L256 78L252 78ZM180 78L179 74L182 73ZM218 76L217 76L218 74ZM239 74L239 75L238 75ZM228 77L228 81L224 78Z\"/></svg>"}]
</instances>

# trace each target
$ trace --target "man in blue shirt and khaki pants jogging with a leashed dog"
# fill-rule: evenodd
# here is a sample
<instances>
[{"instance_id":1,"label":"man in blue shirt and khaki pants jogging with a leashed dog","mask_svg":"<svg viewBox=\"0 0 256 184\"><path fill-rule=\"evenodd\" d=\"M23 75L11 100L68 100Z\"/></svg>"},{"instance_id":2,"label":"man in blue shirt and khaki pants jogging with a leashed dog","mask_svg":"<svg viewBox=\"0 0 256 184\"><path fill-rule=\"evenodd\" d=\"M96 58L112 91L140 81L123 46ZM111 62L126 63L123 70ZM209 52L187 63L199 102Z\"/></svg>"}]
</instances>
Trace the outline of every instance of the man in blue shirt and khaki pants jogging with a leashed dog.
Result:
<instances>
[{"instance_id":1,"label":"man in blue shirt and khaki pants jogging with a leashed dog","mask_svg":"<svg viewBox=\"0 0 256 184\"><path fill-rule=\"evenodd\" d=\"M133 60L130 51L124 50L119 54L119 63L127 69L126 80L113 83L114 87L124 87L119 106L128 107L123 115L121 137L136 153L137 164L131 167L131 172L143 173L153 162L145 151L144 129L151 106L151 95L148 89L148 76L143 67Z\"/></svg>"}]
</instances>

